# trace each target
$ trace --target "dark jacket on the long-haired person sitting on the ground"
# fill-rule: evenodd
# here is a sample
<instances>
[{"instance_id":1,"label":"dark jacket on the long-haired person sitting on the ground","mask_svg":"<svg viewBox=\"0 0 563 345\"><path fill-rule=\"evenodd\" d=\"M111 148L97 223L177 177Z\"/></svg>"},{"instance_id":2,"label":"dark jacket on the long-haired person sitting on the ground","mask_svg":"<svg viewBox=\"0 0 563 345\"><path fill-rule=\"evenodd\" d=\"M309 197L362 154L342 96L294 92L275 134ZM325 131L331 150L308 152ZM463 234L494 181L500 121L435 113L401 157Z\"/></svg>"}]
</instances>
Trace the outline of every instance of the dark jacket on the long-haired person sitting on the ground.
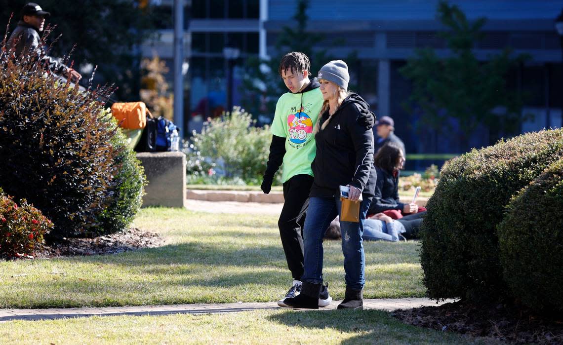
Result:
<instances>
[{"instance_id":1,"label":"dark jacket on the long-haired person sitting on the ground","mask_svg":"<svg viewBox=\"0 0 563 345\"><path fill-rule=\"evenodd\" d=\"M388 209L402 210L405 204L399 201L399 173L394 176L379 167L376 167L377 182L372 203L369 205L368 214L383 212Z\"/></svg>"}]
</instances>

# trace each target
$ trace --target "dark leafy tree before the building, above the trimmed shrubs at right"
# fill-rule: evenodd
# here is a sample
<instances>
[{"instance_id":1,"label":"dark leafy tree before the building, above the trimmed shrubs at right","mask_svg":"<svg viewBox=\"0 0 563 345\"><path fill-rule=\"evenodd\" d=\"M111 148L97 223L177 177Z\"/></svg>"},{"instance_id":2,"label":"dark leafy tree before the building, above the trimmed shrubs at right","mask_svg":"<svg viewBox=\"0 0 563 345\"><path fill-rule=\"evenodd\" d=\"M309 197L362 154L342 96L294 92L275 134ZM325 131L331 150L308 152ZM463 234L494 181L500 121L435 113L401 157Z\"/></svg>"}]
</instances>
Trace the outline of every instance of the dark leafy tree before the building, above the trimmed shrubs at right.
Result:
<instances>
[{"instance_id":1,"label":"dark leafy tree before the building, above the trimmed shrubs at right","mask_svg":"<svg viewBox=\"0 0 563 345\"><path fill-rule=\"evenodd\" d=\"M507 89L505 76L526 56L515 59L506 49L479 61L472 50L484 38L481 30L486 19L470 21L457 6L445 1L439 2L437 17L446 27L440 35L451 55L440 58L431 48L417 50L400 70L413 83L406 107L419 107L422 128L430 127L444 135L452 132L448 119L458 119L461 133L454 135L462 135L466 145L481 124L495 134L515 132L521 119L522 96ZM493 137L494 141L498 138Z\"/></svg>"}]
</instances>

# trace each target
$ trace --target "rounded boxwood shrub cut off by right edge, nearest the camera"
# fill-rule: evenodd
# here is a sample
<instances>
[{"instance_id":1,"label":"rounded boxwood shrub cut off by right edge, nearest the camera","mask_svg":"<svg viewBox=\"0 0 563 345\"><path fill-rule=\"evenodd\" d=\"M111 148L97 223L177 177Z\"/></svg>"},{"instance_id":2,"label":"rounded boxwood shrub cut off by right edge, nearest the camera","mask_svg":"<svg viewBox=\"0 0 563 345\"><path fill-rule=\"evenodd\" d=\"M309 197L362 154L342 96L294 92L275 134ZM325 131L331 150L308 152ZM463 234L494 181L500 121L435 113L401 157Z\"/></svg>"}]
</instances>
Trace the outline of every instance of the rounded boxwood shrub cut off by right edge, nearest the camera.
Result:
<instances>
[{"instance_id":1,"label":"rounded boxwood shrub cut off by right edge, nearest the camera","mask_svg":"<svg viewBox=\"0 0 563 345\"><path fill-rule=\"evenodd\" d=\"M563 311L563 160L508 205L498 226L504 281L538 311Z\"/></svg>"}]
</instances>

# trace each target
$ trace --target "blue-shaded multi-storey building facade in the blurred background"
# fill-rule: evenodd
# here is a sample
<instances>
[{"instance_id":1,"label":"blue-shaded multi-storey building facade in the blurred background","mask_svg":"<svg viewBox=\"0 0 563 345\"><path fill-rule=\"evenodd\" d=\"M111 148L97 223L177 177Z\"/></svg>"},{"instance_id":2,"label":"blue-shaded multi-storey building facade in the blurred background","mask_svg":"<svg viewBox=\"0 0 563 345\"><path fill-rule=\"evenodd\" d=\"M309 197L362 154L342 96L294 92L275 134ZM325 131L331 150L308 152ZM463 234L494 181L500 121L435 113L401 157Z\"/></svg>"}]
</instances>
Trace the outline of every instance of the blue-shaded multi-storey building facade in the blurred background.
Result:
<instances>
[{"instance_id":1,"label":"blue-shaded multi-storey building facade in the blurred background","mask_svg":"<svg viewBox=\"0 0 563 345\"><path fill-rule=\"evenodd\" d=\"M186 6L189 24L186 30L185 119L207 118L226 108L229 62L222 54L228 43L239 48L234 67L233 104L240 104L239 85L242 66L249 56L274 55L275 43L285 26L291 27L296 1L287 0L191 0ZM159 55L172 66L172 1L160 1L163 11L162 38L153 44L169 46L169 53ZM411 91L410 82L400 73L417 48L433 48L438 56L448 56L444 39L438 34L444 27L436 20L438 0L310 0L307 30L323 35L315 49L327 50L330 56L346 59L356 56L350 66L351 86L371 105L379 117L395 119L396 134L403 138L407 153L461 153L467 150L455 138L446 139L418 125L419 114L409 113L404 102ZM563 67L560 38L554 19L561 2L544 0L451 0L468 19L487 17L485 38L474 50L482 61L491 54L510 47L526 53L530 59L510 71L507 87L526 95L524 110L530 116L521 132L561 126L563 107ZM168 24L166 24L168 23ZM150 44L145 55L151 55ZM157 49L158 51L158 49ZM167 60L169 59L169 60ZM312 71L316 75L317 71ZM272 115L272 114L271 114ZM198 128L190 128L198 129ZM478 131L470 145L491 144L503 133ZM421 163L421 164L427 164ZM420 169L421 167L415 167Z\"/></svg>"}]
</instances>

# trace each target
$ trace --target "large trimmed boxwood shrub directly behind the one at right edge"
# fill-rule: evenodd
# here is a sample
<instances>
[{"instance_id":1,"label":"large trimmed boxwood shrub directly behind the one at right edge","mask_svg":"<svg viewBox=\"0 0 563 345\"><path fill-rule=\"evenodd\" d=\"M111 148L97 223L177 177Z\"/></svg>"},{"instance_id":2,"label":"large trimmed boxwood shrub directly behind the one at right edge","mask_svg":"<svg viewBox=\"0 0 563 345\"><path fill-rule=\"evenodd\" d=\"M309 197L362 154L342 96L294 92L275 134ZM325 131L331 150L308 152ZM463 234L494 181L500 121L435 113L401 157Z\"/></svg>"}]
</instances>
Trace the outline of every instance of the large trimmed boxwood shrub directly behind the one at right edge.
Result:
<instances>
[{"instance_id":1,"label":"large trimmed boxwood shrub directly behind the one at right edge","mask_svg":"<svg viewBox=\"0 0 563 345\"><path fill-rule=\"evenodd\" d=\"M431 298L474 301L506 294L497 225L512 195L563 157L563 130L527 133L446 164L421 231Z\"/></svg>"}]
</instances>

